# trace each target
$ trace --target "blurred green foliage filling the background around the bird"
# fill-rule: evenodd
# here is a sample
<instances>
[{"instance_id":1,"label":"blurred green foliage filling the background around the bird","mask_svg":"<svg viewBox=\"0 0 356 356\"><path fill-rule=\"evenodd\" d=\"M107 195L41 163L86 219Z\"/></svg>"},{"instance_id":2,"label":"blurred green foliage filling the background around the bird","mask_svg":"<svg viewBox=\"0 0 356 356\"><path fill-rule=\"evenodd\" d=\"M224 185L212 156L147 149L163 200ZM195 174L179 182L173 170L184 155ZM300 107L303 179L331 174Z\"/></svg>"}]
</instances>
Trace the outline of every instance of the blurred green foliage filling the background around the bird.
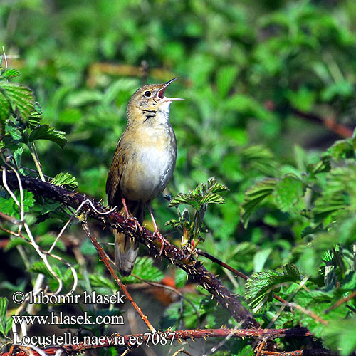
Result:
<instances>
[{"instance_id":1,"label":"blurred green foliage filling the background around the bird","mask_svg":"<svg viewBox=\"0 0 356 356\"><path fill-rule=\"evenodd\" d=\"M0 44L9 55L9 68L21 77L2 61L1 148L14 155L23 174L29 174L24 167L36 169L33 155L38 155L43 174L55 177L53 183L78 184L80 192L105 199L127 100L145 77L142 61L149 83L179 76L167 93L186 100L171 108L178 157L166 193L179 197L213 176L229 187L226 204L206 211L209 232L202 234L199 248L251 276L246 305L258 311L263 327L303 325L325 347L348 355L356 349L350 337L356 333L355 298L325 310L356 288L356 142L335 133L336 124L350 132L356 123L355 19L352 0L4 0ZM19 59L11 59L14 55ZM329 121L323 125L318 117ZM4 190L0 199L0 210L16 216ZM69 211L31 193L26 193L26 206L33 234L51 246ZM165 221L177 219L176 209L162 197L153 208L159 228L179 244L182 234L164 228ZM179 209L184 208L194 216L192 207ZM75 234L88 259L86 268L76 265L80 288L114 290L108 278L95 278L104 274L103 266L77 226L68 239ZM110 231L100 235L112 241ZM34 264L38 256L30 246L14 241L7 245L4 264L18 276L10 281L1 268L4 295L28 290L45 269ZM16 246L28 261L19 258ZM56 253L76 264L66 248L57 245ZM205 259L204 266L244 295L244 281ZM142 259L136 273L148 278L147 271L157 281L172 268ZM69 288L73 281L67 272L58 267ZM186 276L174 273L182 288ZM48 273L46 278L56 288L56 280ZM273 293L312 311L329 327L290 308L271 324L281 310ZM201 288L185 297L162 312L162 327L234 325ZM0 333L5 329L0 325ZM225 345L234 355L251 355L245 346L246 340ZM299 350L312 345L286 339L280 346Z\"/></svg>"}]
</instances>

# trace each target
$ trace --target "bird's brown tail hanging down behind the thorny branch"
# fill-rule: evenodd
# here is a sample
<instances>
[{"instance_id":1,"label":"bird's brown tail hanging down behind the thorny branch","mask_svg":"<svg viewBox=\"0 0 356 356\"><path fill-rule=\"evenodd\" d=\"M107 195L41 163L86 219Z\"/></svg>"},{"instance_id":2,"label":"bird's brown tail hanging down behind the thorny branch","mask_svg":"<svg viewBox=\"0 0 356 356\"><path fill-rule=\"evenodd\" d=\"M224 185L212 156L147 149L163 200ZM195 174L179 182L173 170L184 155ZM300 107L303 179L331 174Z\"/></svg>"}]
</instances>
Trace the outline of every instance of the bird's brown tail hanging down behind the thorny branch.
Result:
<instances>
[{"instance_id":1,"label":"bird's brown tail hanging down behind the thorny branch","mask_svg":"<svg viewBox=\"0 0 356 356\"><path fill-rule=\"evenodd\" d=\"M125 210L123 210L125 211ZM121 211L120 214L125 214ZM136 216L139 224L143 222L144 206L137 204L134 209L130 209L132 216ZM115 266L119 269L121 276L129 276L132 268L135 265L137 258L139 241L131 236L125 235L122 232L114 230L115 234Z\"/></svg>"}]
</instances>

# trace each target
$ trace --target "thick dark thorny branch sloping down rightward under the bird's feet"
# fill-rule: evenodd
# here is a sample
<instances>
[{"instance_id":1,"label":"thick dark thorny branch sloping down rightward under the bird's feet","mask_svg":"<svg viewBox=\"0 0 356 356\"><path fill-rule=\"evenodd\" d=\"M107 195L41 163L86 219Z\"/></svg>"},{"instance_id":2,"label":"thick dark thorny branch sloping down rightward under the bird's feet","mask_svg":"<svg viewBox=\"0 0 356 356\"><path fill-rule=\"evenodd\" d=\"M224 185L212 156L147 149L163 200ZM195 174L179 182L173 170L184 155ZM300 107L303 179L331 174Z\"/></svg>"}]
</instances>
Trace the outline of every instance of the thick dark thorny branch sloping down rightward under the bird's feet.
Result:
<instances>
[{"instance_id":1,"label":"thick dark thorny branch sloping down rightward under the bird's feet","mask_svg":"<svg viewBox=\"0 0 356 356\"><path fill-rule=\"evenodd\" d=\"M85 211L87 216L98 221L103 221L106 225L111 226L117 231L125 232L125 234L132 237L135 236L135 239L145 244L150 251L155 251L158 255L161 248L159 238L144 227L139 226L139 229L137 229L137 221L125 219L124 216L121 216L115 211L110 212L108 208L88 199L84 194L71 192L63 187L42 182L32 177L21 175L20 179L23 189L27 189L41 197L59 201L61 204L71 206L74 209L78 209L78 206L87 200L88 203L83 204L83 211ZM7 172L6 181L12 189L19 188L19 183L13 172ZM95 209L93 209L92 206ZM95 210L99 211L100 214L95 212ZM102 215L103 213L105 213L105 215ZM229 313L231 313L239 323L246 325L248 328L260 327L259 323L253 318L252 313L241 304L239 299L236 298L216 276L207 271L206 268L191 255L187 255L184 251L177 248L177 246L166 241L163 246L162 256L167 258L174 265L182 268L194 281L211 293L212 297L216 298L224 308L229 310Z\"/></svg>"}]
</instances>

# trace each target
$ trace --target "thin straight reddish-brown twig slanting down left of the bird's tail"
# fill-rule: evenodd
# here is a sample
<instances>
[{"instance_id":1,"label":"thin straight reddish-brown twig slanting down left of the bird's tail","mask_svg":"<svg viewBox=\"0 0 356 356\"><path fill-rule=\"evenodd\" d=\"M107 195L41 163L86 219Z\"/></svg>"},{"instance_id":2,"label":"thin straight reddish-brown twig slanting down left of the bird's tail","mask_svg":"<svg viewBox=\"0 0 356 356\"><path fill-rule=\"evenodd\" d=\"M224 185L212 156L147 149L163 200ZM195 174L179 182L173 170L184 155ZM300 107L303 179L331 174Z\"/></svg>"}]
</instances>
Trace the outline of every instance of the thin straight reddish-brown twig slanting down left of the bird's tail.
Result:
<instances>
[{"instance_id":1,"label":"thin straight reddish-brown twig slanting down left of the bird's tail","mask_svg":"<svg viewBox=\"0 0 356 356\"><path fill-rule=\"evenodd\" d=\"M98 244L97 239L95 239L95 236L93 236L93 233L90 231L89 226L85 221L82 222L82 227L83 227L83 230L85 231L85 234L87 234L87 236L90 239L91 243L93 244L93 246L95 247L96 251L98 252L98 255L100 256L101 261L103 261L103 263L105 264L106 268L108 268L108 271L110 272L111 276L115 279L116 283L120 286L121 290L125 293L127 300L130 301L132 306L135 308L135 310L140 315L142 320L145 322L147 327L151 330L151 332L155 333L156 332L155 328L153 328L152 324L147 319L147 316L142 313L142 310L137 305L135 300L133 300L132 296L130 295L130 293L126 289L125 285L120 281L120 278L117 277L115 271L112 269L112 267L110 265L108 256L106 256L106 253L103 250L103 247L101 247Z\"/></svg>"}]
</instances>

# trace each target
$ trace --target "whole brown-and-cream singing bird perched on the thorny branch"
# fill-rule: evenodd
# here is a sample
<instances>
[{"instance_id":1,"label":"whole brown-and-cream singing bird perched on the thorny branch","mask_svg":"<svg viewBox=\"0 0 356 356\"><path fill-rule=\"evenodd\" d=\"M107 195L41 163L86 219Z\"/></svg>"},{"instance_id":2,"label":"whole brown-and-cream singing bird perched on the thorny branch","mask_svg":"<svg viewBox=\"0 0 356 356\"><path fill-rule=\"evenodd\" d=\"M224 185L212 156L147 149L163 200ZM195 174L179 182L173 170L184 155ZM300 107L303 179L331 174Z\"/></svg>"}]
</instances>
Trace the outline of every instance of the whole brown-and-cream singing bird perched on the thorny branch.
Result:
<instances>
[{"instance_id":1,"label":"whole brown-and-cream singing bird perched on the thorny branch","mask_svg":"<svg viewBox=\"0 0 356 356\"><path fill-rule=\"evenodd\" d=\"M167 83L147 84L137 89L127 104L127 127L117 142L106 181L110 208L117 206L120 214L142 224L145 208L150 211L155 235L159 234L150 202L167 187L177 159L177 140L169 123L173 101L164 93ZM121 276L130 276L139 248L137 239L117 230L115 234L115 266Z\"/></svg>"}]
</instances>

